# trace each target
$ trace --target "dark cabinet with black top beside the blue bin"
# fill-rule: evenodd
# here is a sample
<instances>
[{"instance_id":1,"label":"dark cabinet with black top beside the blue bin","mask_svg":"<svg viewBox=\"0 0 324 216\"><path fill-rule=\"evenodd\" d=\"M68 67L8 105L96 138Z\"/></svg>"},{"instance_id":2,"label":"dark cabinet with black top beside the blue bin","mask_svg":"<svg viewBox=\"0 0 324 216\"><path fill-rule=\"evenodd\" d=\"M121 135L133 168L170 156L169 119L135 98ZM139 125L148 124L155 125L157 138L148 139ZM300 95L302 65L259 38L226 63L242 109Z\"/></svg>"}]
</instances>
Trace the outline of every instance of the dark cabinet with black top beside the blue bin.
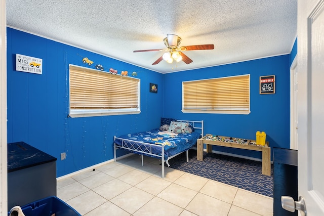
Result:
<instances>
[{"instance_id":1,"label":"dark cabinet with black top beside the blue bin","mask_svg":"<svg viewBox=\"0 0 324 216\"><path fill-rule=\"evenodd\" d=\"M24 142L8 144L8 209L56 196L56 158Z\"/></svg>"}]
</instances>

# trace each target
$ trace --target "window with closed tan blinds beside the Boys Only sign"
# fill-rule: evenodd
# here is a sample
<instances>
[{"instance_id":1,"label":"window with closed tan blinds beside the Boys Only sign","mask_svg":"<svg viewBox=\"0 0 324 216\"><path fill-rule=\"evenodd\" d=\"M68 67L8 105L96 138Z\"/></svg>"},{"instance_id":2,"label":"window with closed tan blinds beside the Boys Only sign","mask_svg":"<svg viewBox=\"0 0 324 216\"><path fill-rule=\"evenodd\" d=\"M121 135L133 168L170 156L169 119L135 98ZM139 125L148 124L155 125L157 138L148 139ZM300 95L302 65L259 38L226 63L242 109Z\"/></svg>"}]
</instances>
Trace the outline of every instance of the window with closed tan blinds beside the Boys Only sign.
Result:
<instances>
[{"instance_id":1,"label":"window with closed tan blinds beside the Boys Only sign","mask_svg":"<svg viewBox=\"0 0 324 216\"><path fill-rule=\"evenodd\" d=\"M250 113L250 75L182 82L182 112Z\"/></svg>"}]
</instances>

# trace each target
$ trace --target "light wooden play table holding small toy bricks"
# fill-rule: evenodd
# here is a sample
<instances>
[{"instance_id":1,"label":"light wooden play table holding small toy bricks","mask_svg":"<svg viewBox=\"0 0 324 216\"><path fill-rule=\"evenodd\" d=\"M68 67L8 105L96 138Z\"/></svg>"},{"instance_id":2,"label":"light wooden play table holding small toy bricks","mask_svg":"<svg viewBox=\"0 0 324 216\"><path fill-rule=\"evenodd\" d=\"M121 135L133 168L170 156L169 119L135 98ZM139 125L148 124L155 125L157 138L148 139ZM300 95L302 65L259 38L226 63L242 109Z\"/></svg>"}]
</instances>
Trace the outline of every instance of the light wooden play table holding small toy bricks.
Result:
<instances>
[{"instance_id":1,"label":"light wooden play table holding small toy bricks","mask_svg":"<svg viewBox=\"0 0 324 216\"><path fill-rule=\"evenodd\" d=\"M249 139L240 139L240 138L231 138L231 140L247 140L247 144L235 143L235 142L222 142L217 141L216 139L211 139L213 135L207 134L203 138L197 140L197 160L203 161L203 152L204 152L204 144L206 144L207 153L212 152L212 147L214 146L225 146L232 147L238 149L248 149L254 151L262 152L262 174L270 176L271 172L271 163L270 163L270 152L271 148L269 147L269 142L265 142L265 145L249 145L249 143L255 143L255 140ZM215 137L216 138L216 137ZM224 140L229 140L229 137L218 136L218 138L224 138Z\"/></svg>"}]
</instances>

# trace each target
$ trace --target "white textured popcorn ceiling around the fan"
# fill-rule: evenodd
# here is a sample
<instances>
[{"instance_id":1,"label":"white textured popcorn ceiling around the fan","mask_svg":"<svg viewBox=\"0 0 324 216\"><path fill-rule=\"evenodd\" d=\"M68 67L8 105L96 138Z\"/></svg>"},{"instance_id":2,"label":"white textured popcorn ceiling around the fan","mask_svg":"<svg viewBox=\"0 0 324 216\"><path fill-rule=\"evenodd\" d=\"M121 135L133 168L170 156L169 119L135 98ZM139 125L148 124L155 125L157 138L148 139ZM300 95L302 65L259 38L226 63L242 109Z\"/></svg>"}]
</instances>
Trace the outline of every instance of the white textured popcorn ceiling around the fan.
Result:
<instances>
[{"instance_id":1,"label":"white textured popcorn ceiling around the fan","mask_svg":"<svg viewBox=\"0 0 324 216\"><path fill-rule=\"evenodd\" d=\"M291 52L297 36L297 0L7 0L7 25L153 71L168 73ZM157 65L168 33L191 64ZM103 64L104 65L104 64ZM109 66L108 66L109 67Z\"/></svg>"}]
</instances>

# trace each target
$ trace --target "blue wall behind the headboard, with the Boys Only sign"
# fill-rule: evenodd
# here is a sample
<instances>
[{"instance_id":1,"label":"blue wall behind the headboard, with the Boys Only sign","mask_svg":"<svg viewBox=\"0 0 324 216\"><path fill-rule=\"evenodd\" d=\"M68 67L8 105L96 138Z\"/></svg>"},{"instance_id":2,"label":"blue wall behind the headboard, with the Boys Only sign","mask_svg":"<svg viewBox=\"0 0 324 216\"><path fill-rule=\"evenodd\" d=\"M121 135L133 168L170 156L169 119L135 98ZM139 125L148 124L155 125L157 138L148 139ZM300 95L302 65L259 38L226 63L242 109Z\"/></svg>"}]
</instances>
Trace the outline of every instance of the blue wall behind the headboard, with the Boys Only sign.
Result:
<instances>
[{"instance_id":1,"label":"blue wall behind the headboard, with the Boys Only sign","mask_svg":"<svg viewBox=\"0 0 324 216\"><path fill-rule=\"evenodd\" d=\"M256 139L267 134L270 147L290 148L290 55L169 73L164 76L164 116L204 120L205 134ZM182 81L251 74L251 113L192 114L181 112ZM275 75L275 94L260 95L260 76ZM213 146L213 150L261 158L260 152Z\"/></svg>"}]
</instances>

